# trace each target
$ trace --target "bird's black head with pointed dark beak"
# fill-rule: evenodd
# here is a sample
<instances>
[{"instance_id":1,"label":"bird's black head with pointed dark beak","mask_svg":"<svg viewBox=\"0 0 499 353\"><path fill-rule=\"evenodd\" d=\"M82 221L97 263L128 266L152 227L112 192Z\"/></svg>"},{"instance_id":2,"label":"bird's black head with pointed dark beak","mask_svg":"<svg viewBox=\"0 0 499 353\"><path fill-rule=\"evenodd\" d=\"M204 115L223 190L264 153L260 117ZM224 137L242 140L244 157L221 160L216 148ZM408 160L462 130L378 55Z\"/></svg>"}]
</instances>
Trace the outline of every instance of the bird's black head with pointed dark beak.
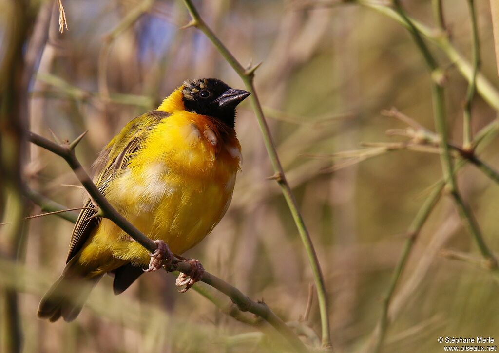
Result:
<instances>
[{"instance_id":1,"label":"bird's black head with pointed dark beak","mask_svg":"<svg viewBox=\"0 0 499 353\"><path fill-rule=\"evenodd\" d=\"M231 88L215 78L201 78L185 81L182 95L187 111L213 117L233 128L236 107L250 92Z\"/></svg>"}]
</instances>

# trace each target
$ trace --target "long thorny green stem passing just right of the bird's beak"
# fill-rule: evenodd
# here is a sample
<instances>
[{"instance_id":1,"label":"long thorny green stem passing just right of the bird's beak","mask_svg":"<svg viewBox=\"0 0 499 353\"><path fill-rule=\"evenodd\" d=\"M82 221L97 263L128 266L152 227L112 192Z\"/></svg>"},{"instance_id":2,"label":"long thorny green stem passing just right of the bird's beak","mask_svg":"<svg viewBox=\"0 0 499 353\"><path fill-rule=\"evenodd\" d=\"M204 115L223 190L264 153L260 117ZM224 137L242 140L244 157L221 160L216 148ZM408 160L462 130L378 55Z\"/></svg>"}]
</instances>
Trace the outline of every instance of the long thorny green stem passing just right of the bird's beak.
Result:
<instances>
[{"instance_id":1,"label":"long thorny green stem passing just right of the bird's beak","mask_svg":"<svg viewBox=\"0 0 499 353\"><path fill-rule=\"evenodd\" d=\"M258 100L258 96L254 89L254 84L253 84L254 71L258 68L259 64L245 69L243 65L239 63L239 61L234 57L234 55L229 51L229 49L227 49L227 47L217 37L217 35L210 29L210 27L208 27L205 21L201 18L198 10L196 9L192 1L184 0L184 3L192 17L192 20L189 22L189 24L186 27L198 28L208 37L208 39L212 41L212 43L215 45L220 54L232 66L234 71L236 71L237 74L241 77L246 86L246 89L251 93L250 96L251 106L256 115L256 119L258 121L258 125L262 133L263 142L265 144L267 154L270 158L270 162L272 164L272 168L275 173L273 178L277 181L277 183L281 188L282 194L284 195L289 210L291 211L291 214L293 216L294 222L296 223L296 227L298 228L298 232L300 234L303 246L305 247L305 251L308 256L308 260L310 262L310 267L312 269L315 287L317 288L317 298L319 302L319 311L320 311L321 327L322 327L322 346L325 348L329 348L331 347L331 338L329 332L327 294L324 284L324 277L320 269L319 260L317 258L317 254L315 253L315 249L313 247L310 234L308 233L308 230L303 221L303 217L301 216L301 213L298 209L298 204L296 202L296 199L294 198L293 192L291 191L291 187L289 186L285 178L284 171L280 164L279 157L277 156L277 151L273 143L272 136L270 134L270 130L265 120L263 110Z\"/></svg>"}]
</instances>

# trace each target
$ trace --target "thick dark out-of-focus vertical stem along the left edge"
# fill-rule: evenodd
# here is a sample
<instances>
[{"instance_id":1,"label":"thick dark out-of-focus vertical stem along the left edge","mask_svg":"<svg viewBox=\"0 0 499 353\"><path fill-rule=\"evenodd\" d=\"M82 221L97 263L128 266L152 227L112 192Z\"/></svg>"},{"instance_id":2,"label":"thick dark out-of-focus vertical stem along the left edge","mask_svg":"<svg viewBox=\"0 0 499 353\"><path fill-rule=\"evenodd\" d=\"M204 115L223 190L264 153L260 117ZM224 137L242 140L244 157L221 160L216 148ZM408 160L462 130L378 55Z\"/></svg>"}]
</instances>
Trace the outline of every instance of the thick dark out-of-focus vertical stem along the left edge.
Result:
<instances>
[{"instance_id":1,"label":"thick dark out-of-focus vertical stem along the left edge","mask_svg":"<svg viewBox=\"0 0 499 353\"><path fill-rule=\"evenodd\" d=\"M22 261L26 205L22 165L27 158L27 85L32 67L25 65L23 46L32 23L28 1L4 1L0 15L3 40L0 62L0 229L1 257ZM12 288L0 291L0 349L21 352L22 324L18 295Z\"/></svg>"}]
</instances>

